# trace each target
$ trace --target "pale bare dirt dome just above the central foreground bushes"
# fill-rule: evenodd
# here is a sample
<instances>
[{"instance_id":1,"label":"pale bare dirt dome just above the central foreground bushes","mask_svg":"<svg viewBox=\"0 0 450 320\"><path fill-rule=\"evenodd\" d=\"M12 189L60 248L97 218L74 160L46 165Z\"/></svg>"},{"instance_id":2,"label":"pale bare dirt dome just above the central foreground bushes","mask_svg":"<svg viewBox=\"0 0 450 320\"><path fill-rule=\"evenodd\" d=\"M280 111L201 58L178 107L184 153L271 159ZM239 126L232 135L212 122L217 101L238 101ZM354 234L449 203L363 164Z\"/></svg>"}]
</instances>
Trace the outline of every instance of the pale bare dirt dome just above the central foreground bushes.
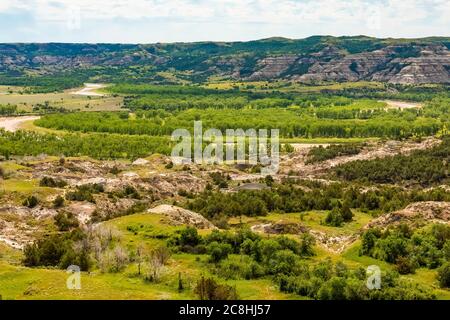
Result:
<instances>
[{"instance_id":1,"label":"pale bare dirt dome just above the central foreground bushes","mask_svg":"<svg viewBox=\"0 0 450 320\"><path fill-rule=\"evenodd\" d=\"M159 205L149 209L149 213L162 214L168 217L174 225L188 225L198 229L217 229L201 214L171 205Z\"/></svg>"}]
</instances>

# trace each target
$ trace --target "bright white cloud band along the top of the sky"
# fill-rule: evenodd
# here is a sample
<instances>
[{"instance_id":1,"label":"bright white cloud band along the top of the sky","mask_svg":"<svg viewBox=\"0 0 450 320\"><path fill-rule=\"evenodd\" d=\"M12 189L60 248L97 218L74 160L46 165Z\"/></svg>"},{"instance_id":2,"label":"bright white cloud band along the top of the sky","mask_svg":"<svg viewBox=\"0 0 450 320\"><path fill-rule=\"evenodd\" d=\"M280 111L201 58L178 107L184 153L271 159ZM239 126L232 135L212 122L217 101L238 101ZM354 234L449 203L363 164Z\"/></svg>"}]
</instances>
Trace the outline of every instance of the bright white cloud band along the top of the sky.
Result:
<instances>
[{"instance_id":1,"label":"bright white cloud band along the top of the sky","mask_svg":"<svg viewBox=\"0 0 450 320\"><path fill-rule=\"evenodd\" d=\"M440 17L448 0L2 0L0 12L23 9L37 18L63 19L69 7L79 6L86 19L226 18L241 22L301 20L364 20L373 6L389 18L411 21L426 17L433 8ZM446 16L448 18L448 16Z\"/></svg>"}]
</instances>

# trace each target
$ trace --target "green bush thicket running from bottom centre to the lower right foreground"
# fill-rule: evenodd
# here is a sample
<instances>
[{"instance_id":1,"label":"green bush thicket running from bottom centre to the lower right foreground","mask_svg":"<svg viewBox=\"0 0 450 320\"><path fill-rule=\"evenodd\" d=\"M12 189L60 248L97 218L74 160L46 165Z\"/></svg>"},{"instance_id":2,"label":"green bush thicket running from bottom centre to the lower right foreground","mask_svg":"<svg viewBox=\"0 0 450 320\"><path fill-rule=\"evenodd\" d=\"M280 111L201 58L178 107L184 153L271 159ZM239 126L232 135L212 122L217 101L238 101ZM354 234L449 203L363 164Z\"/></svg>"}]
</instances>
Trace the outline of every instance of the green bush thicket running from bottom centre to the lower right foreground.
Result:
<instances>
[{"instance_id":1,"label":"green bush thicket running from bottom centre to the lower right foreground","mask_svg":"<svg viewBox=\"0 0 450 320\"><path fill-rule=\"evenodd\" d=\"M301 241L284 236L263 239L245 230L236 233L214 231L202 237L194 228L188 228L182 230L173 241L181 250L186 250L186 246L189 246L188 252L194 249L195 253L199 253L201 250L198 247L204 246L205 252L210 255L212 271L221 278L249 280L270 277L282 292L312 299L436 298L431 290L399 278L397 272L383 273L381 287L370 290L367 287L366 270L362 267L350 269L344 263L333 263L330 259L311 263L307 259L314 255L314 238L309 234L303 234ZM441 273L444 277L445 270ZM202 292L206 292L204 288ZM205 298L204 295L202 297Z\"/></svg>"}]
</instances>

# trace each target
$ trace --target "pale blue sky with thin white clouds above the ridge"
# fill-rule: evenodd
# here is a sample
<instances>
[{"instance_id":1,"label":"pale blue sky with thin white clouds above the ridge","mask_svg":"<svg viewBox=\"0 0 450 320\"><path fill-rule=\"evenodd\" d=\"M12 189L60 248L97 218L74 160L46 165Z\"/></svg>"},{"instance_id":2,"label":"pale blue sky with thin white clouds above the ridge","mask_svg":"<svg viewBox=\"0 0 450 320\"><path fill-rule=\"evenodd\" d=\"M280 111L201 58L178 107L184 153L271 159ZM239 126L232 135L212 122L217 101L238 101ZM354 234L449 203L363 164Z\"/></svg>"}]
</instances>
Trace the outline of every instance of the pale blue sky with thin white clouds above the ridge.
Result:
<instances>
[{"instance_id":1,"label":"pale blue sky with thin white clouds above the ridge","mask_svg":"<svg viewBox=\"0 0 450 320\"><path fill-rule=\"evenodd\" d=\"M450 0L0 0L0 42L450 36Z\"/></svg>"}]
</instances>

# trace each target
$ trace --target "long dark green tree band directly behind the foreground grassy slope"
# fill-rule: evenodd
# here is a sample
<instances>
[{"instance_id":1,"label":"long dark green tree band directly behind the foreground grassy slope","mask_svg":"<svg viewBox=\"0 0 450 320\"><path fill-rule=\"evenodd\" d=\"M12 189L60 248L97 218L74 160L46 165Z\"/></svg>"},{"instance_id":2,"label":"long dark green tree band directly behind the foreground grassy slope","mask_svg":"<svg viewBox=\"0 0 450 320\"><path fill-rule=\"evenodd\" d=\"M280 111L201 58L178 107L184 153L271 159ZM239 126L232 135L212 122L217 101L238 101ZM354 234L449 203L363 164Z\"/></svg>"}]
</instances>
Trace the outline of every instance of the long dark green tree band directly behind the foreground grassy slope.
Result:
<instances>
[{"instance_id":1,"label":"long dark green tree band directly behind the foreground grassy slope","mask_svg":"<svg viewBox=\"0 0 450 320\"><path fill-rule=\"evenodd\" d=\"M299 185L307 185L305 191ZM380 187L364 190L346 187L345 184L311 184L304 181L287 181L274 184L271 189L259 191L240 190L223 193L207 190L195 195L186 207L200 212L208 219L230 216L264 216L269 212L303 212L332 210L337 208L342 221L349 221L348 209L366 212L390 212L417 201L449 201L450 194L444 189L430 191L407 191L398 187ZM345 213L341 212L342 210ZM340 218L338 218L340 219ZM333 219L331 219L333 220ZM330 224L331 223L330 220ZM340 223L337 223L340 225Z\"/></svg>"}]
</instances>

